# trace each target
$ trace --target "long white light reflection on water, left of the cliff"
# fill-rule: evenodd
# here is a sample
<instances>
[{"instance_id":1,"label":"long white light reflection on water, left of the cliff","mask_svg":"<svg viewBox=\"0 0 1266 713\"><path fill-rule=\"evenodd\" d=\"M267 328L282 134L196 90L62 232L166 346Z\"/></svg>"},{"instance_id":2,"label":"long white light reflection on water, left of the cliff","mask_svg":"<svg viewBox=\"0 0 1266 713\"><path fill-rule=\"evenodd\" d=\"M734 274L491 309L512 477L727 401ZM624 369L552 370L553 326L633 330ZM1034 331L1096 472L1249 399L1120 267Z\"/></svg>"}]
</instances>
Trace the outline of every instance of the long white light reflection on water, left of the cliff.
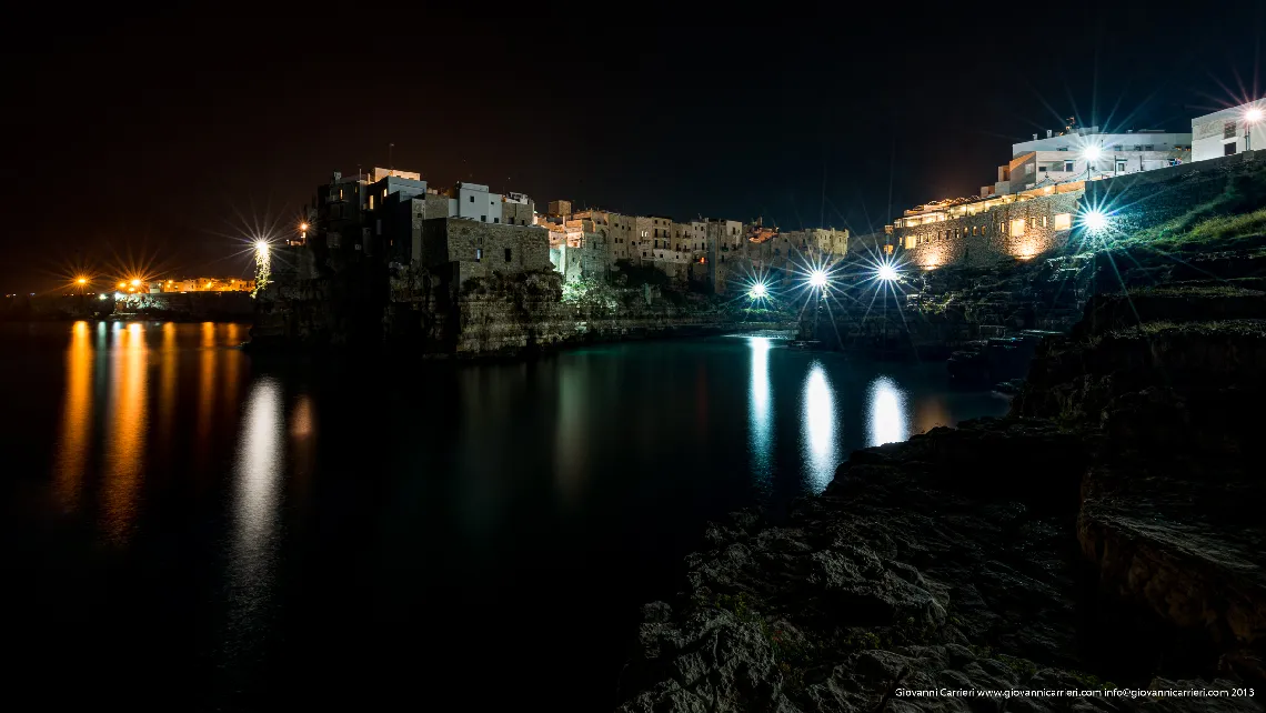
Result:
<instances>
[{"instance_id":1,"label":"long white light reflection on water, left of the cliff","mask_svg":"<svg viewBox=\"0 0 1266 713\"><path fill-rule=\"evenodd\" d=\"M247 395L233 472L230 604L235 636L248 636L267 603L276 557L277 505L285 460L281 386L260 379Z\"/></svg>"}]
</instances>

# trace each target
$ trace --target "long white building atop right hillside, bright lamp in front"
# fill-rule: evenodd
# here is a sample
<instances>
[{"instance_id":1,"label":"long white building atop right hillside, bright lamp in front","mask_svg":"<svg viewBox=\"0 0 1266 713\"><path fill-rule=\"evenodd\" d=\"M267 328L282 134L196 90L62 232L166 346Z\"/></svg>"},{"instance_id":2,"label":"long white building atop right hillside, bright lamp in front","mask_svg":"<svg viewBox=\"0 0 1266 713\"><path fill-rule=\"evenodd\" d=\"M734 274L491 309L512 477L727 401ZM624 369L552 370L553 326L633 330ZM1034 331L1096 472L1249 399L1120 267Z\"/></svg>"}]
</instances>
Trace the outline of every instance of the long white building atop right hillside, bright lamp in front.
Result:
<instances>
[{"instance_id":1,"label":"long white building atop right hillside, bright lamp in front","mask_svg":"<svg viewBox=\"0 0 1266 713\"><path fill-rule=\"evenodd\" d=\"M1158 129L1103 133L1076 129L1012 144L1012 161L981 195L1008 195L1067 181L1110 179L1176 166L1191 158L1191 134Z\"/></svg>"}]
</instances>

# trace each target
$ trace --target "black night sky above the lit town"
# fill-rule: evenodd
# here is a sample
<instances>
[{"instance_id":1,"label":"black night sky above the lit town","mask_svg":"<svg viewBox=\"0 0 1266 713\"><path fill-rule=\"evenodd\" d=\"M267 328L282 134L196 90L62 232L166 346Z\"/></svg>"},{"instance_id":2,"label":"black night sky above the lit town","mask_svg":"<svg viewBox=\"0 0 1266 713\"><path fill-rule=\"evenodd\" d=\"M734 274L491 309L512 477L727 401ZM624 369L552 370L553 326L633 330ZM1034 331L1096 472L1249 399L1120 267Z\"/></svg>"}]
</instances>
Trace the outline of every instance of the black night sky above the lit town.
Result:
<instances>
[{"instance_id":1,"label":"black night sky above the lit town","mask_svg":"<svg viewBox=\"0 0 1266 713\"><path fill-rule=\"evenodd\" d=\"M1032 5L27 10L0 30L0 291L76 265L246 275L246 225L289 227L330 171L385 166L389 143L433 185L542 209L865 230L975 194L1062 117L1190 130L1262 90L1262 3Z\"/></svg>"}]
</instances>

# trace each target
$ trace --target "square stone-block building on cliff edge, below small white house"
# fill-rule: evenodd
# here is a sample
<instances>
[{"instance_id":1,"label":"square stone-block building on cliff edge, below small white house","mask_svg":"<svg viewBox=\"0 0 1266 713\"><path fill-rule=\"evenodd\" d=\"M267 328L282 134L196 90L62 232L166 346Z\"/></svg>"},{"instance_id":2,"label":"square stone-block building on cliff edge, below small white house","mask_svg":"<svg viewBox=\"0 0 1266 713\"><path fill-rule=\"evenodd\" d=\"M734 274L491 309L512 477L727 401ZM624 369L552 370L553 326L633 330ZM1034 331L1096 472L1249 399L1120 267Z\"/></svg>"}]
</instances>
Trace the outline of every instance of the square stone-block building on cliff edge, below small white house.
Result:
<instances>
[{"instance_id":1,"label":"square stone-block building on cliff edge, below small white house","mask_svg":"<svg viewBox=\"0 0 1266 713\"><path fill-rule=\"evenodd\" d=\"M549 270L548 230L461 218L428 218L413 241L413 260L427 268L452 266L465 284L492 272Z\"/></svg>"}]
</instances>

